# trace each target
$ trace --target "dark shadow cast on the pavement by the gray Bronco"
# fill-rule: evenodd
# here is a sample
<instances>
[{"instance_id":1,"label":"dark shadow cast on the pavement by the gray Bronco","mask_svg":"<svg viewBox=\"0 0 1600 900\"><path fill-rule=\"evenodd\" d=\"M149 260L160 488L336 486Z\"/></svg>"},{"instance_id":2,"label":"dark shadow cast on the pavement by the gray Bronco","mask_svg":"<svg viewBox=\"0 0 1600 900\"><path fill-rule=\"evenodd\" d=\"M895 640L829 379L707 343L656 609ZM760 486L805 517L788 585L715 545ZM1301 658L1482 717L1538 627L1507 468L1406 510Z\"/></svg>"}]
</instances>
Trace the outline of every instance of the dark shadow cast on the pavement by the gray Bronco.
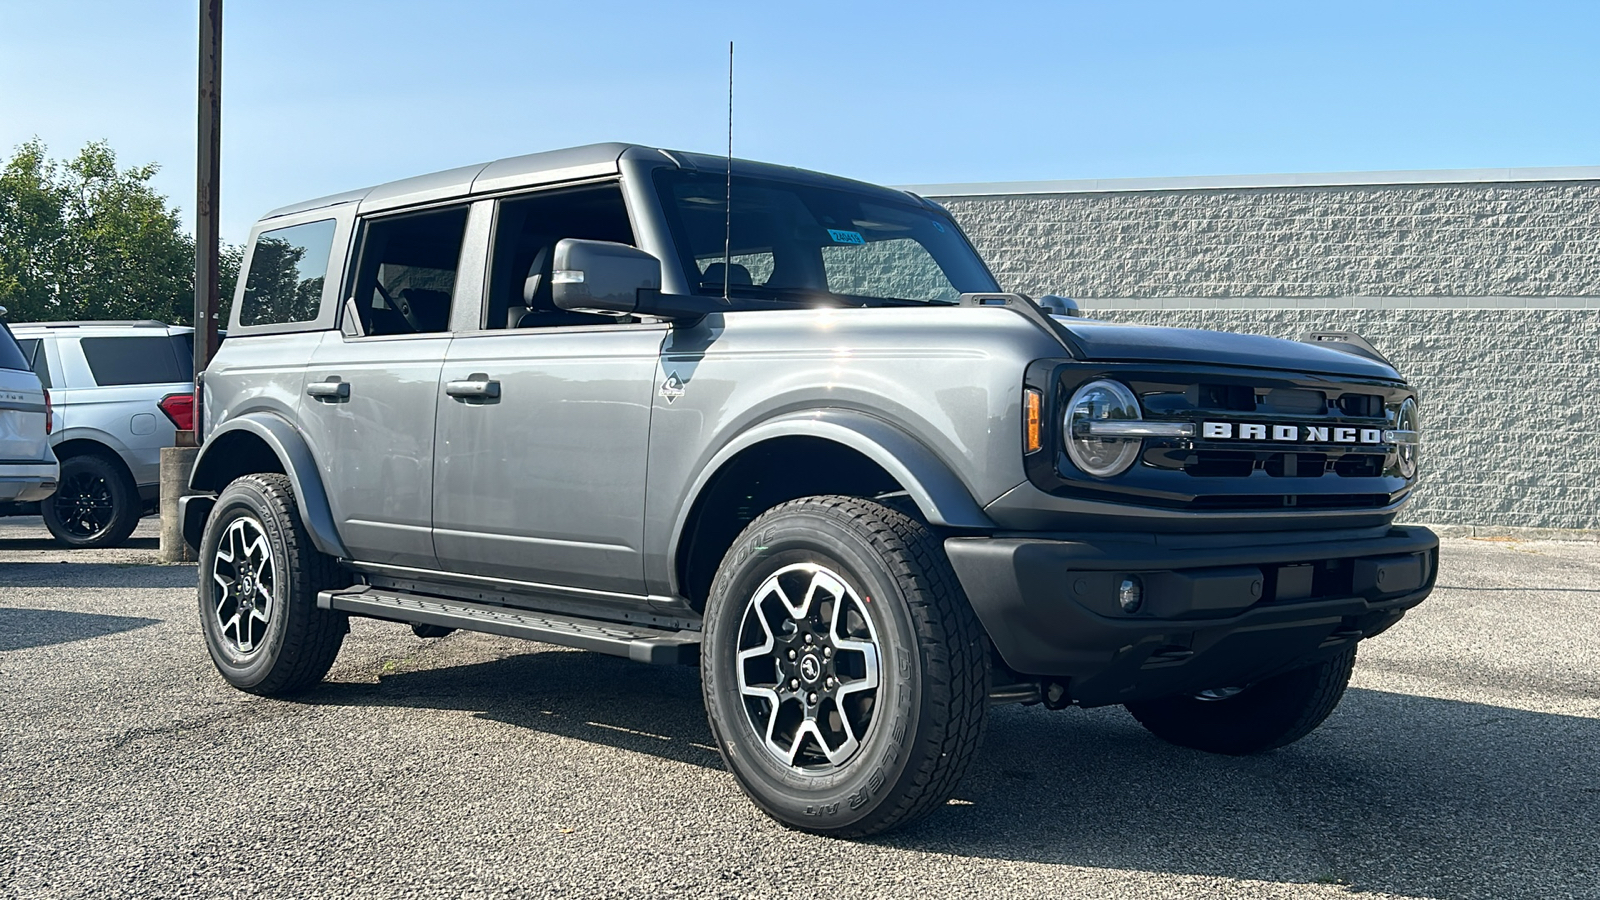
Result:
<instances>
[{"instance_id":1,"label":"dark shadow cast on the pavement by the gray Bronco","mask_svg":"<svg viewBox=\"0 0 1600 900\"><path fill-rule=\"evenodd\" d=\"M326 684L315 705L469 709L720 769L699 676L579 652ZM957 799L872 842L1403 895L1592 895L1600 721L1350 690L1298 745L1165 745L1120 708L994 709Z\"/></svg>"}]
</instances>

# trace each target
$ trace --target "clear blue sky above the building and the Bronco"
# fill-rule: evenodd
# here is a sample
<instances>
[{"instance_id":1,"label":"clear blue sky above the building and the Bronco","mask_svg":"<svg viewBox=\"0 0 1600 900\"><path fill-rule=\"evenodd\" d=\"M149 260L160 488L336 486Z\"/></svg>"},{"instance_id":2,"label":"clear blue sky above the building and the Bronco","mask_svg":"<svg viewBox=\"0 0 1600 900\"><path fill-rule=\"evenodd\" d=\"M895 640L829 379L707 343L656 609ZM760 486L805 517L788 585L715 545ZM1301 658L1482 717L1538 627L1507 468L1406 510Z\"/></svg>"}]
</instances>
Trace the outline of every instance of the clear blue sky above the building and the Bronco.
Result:
<instances>
[{"instance_id":1,"label":"clear blue sky above the building and the Bronco","mask_svg":"<svg viewBox=\"0 0 1600 900\"><path fill-rule=\"evenodd\" d=\"M194 207L194 0L0 0L0 149ZM227 0L224 237L590 141L888 184L1600 163L1600 3Z\"/></svg>"}]
</instances>

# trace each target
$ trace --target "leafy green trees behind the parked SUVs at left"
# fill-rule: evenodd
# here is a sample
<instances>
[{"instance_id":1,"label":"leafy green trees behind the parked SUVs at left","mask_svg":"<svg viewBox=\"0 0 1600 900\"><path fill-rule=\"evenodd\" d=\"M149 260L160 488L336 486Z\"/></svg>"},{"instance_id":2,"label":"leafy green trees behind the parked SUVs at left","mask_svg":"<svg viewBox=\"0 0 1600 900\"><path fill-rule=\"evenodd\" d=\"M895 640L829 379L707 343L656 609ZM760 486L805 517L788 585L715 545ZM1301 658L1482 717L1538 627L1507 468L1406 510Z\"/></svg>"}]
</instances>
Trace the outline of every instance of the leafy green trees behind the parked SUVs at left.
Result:
<instances>
[{"instance_id":1,"label":"leafy green trees behind the parked SUVs at left","mask_svg":"<svg viewBox=\"0 0 1600 900\"><path fill-rule=\"evenodd\" d=\"M158 319L190 323L194 239L150 187L157 165L117 168L93 143L58 162L38 139L0 168L0 306L11 322ZM224 247L222 293L240 251Z\"/></svg>"}]
</instances>

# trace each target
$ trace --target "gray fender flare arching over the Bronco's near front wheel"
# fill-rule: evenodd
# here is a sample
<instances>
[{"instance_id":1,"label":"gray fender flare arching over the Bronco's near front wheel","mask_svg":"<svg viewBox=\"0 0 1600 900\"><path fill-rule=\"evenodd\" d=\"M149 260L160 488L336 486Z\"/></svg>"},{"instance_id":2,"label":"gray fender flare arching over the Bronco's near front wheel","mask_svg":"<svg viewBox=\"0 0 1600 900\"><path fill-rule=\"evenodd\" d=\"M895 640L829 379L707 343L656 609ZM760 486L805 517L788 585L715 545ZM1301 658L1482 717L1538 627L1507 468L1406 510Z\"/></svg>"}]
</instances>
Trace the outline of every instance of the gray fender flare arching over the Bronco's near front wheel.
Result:
<instances>
[{"instance_id":1,"label":"gray fender flare arching over the Bronco's near front wheel","mask_svg":"<svg viewBox=\"0 0 1600 900\"><path fill-rule=\"evenodd\" d=\"M995 527L966 485L915 437L888 421L854 410L805 410L770 418L739 432L701 466L678 504L667 559L677 559L690 516L717 472L739 453L778 437L821 437L856 450L893 476L933 525L974 530Z\"/></svg>"}]
</instances>

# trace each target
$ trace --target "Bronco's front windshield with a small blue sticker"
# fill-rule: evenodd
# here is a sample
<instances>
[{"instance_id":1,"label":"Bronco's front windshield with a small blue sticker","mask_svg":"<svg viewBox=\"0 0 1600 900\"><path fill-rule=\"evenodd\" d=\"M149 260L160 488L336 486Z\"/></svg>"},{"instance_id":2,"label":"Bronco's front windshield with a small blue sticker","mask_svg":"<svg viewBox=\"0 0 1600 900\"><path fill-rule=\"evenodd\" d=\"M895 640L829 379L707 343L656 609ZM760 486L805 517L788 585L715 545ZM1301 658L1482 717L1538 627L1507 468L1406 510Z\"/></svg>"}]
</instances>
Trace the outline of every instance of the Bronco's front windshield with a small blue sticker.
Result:
<instances>
[{"instance_id":1,"label":"Bronco's front windshield with a small blue sticker","mask_svg":"<svg viewBox=\"0 0 1600 900\"><path fill-rule=\"evenodd\" d=\"M875 194L733 176L731 264L723 269L726 176L662 168L656 191L690 291L867 304L944 304L995 282L949 218Z\"/></svg>"}]
</instances>

